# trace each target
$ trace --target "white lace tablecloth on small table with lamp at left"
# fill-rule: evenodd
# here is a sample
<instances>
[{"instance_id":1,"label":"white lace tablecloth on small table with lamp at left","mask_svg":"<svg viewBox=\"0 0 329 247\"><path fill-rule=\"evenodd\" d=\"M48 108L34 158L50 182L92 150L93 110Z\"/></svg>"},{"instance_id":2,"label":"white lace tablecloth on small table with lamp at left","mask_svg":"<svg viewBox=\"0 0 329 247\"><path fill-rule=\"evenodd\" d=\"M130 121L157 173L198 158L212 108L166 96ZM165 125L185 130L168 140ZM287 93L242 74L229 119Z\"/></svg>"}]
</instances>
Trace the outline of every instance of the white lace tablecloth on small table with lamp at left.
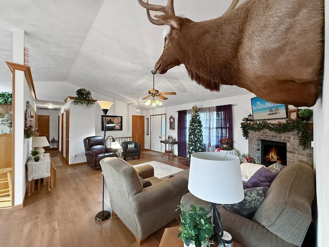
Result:
<instances>
[{"instance_id":1,"label":"white lace tablecloth on small table with lamp at left","mask_svg":"<svg viewBox=\"0 0 329 247\"><path fill-rule=\"evenodd\" d=\"M40 158L38 162L35 162L32 156L29 157L27 165L27 179L31 181L33 179L42 179L50 176L50 155L44 153L44 157Z\"/></svg>"}]
</instances>

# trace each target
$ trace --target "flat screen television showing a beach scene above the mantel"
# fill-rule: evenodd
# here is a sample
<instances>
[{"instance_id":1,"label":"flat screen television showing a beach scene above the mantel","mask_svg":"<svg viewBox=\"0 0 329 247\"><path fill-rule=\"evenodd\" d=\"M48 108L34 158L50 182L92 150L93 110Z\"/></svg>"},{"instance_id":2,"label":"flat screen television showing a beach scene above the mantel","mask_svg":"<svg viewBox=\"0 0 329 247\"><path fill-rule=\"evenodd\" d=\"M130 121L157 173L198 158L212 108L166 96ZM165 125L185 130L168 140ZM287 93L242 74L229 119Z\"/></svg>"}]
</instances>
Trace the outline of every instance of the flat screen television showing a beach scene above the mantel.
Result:
<instances>
[{"instance_id":1,"label":"flat screen television showing a beach scene above the mantel","mask_svg":"<svg viewBox=\"0 0 329 247\"><path fill-rule=\"evenodd\" d=\"M266 101L259 97L251 98L253 120L287 118L288 105Z\"/></svg>"}]
</instances>

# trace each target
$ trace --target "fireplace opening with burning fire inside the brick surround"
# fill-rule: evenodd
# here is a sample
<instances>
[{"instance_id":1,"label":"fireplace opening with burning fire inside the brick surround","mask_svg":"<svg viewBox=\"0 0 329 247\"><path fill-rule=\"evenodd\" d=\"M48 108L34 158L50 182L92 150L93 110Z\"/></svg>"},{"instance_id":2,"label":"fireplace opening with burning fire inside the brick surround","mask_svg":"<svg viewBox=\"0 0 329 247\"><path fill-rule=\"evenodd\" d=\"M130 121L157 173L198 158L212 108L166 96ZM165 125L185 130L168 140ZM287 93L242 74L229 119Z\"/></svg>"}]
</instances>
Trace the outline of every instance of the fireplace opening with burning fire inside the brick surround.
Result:
<instances>
[{"instance_id":1,"label":"fireplace opening with burning fire inside the brick surround","mask_svg":"<svg viewBox=\"0 0 329 247\"><path fill-rule=\"evenodd\" d=\"M281 165L287 165L287 144L283 142L274 142L272 140L261 140L261 158L262 164L270 166L280 162Z\"/></svg>"}]
</instances>

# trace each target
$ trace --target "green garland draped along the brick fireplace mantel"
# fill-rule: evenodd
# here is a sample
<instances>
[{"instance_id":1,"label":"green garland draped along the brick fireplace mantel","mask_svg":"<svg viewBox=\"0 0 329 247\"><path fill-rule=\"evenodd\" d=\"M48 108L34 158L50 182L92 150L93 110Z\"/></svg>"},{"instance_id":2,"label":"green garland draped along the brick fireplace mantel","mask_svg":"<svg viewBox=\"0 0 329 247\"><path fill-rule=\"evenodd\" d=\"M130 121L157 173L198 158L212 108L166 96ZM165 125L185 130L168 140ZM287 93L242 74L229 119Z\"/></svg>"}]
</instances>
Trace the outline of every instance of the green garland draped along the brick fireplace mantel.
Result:
<instances>
[{"instance_id":1,"label":"green garland draped along the brick fireplace mantel","mask_svg":"<svg viewBox=\"0 0 329 247\"><path fill-rule=\"evenodd\" d=\"M310 135L306 128L307 121L296 119L295 121L278 121L275 123L267 121L254 121L254 122L242 122L241 129L242 135L248 139L249 130L261 131L267 129L276 133L284 133L296 130L299 135L299 145L303 147L303 150L309 147Z\"/></svg>"}]
</instances>

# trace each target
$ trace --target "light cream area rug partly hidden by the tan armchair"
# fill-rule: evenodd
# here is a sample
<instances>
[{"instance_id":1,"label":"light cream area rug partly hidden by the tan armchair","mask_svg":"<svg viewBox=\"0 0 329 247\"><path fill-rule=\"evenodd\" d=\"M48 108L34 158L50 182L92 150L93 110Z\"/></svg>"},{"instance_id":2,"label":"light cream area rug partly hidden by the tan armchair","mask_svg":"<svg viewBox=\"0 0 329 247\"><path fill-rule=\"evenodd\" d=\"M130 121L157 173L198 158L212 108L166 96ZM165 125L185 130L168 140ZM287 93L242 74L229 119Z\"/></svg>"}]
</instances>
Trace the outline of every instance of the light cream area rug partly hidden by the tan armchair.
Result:
<instances>
[{"instance_id":1,"label":"light cream area rug partly hidden by the tan armchair","mask_svg":"<svg viewBox=\"0 0 329 247\"><path fill-rule=\"evenodd\" d=\"M151 165L154 168L154 177L157 178L163 178L167 177L173 173L176 173L178 171L182 171L184 169L166 165L157 161L150 161L150 162L145 162L141 164L134 165L134 167L142 166L142 165ZM109 196L108 196L108 191L107 191L107 186L105 185L104 187L104 209L112 212L111 208L111 202L109 201Z\"/></svg>"}]
</instances>

